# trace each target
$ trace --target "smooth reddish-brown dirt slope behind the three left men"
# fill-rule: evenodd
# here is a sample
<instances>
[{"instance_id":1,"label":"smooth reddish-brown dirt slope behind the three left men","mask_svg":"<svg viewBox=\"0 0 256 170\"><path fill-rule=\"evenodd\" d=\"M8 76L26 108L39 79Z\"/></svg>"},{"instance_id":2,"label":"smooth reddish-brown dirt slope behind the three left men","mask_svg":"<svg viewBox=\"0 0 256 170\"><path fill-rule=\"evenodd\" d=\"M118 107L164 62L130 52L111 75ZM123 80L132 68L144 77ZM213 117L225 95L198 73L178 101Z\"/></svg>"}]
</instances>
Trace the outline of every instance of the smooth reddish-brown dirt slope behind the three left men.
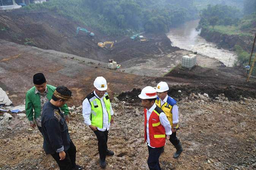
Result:
<instances>
[{"instance_id":1,"label":"smooth reddish-brown dirt slope behind the three left men","mask_svg":"<svg viewBox=\"0 0 256 170\"><path fill-rule=\"evenodd\" d=\"M47 51L31 46L23 46L0 40L0 82L9 92L15 105L23 104L25 93L33 86L33 74L44 73L51 85L67 86L73 91L71 104L80 105L93 90L93 81L97 76L107 79L111 97L115 93L141 88L141 76L112 71L63 57L57 51Z\"/></svg>"}]
</instances>

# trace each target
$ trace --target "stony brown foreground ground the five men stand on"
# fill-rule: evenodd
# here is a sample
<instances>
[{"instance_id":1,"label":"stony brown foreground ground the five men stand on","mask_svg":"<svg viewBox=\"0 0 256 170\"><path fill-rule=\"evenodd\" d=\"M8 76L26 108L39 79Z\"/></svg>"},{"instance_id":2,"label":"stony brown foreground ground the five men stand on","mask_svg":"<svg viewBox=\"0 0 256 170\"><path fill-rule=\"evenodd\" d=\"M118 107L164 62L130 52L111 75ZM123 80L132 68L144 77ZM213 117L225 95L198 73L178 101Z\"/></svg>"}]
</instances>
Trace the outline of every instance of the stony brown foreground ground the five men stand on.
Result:
<instances>
[{"instance_id":1,"label":"stony brown foreground ground the five men stand on","mask_svg":"<svg viewBox=\"0 0 256 170\"><path fill-rule=\"evenodd\" d=\"M135 96L135 95L134 95ZM144 115L138 99L126 95L112 100L115 122L109 131L108 147L115 152L107 157L107 168L146 170L147 145L143 144ZM169 141L160 157L163 170L251 170L256 168L256 100L241 97L228 100L224 94L215 99L208 94L184 96L179 101L181 129L178 137L184 151L178 159ZM83 123L80 107L70 109L68 123L71 139L77 148L77 164L85 169L101 169L98 165L95 134ZM3 115L3 113L0 113ZM43 151L43 138L29 127L22 115L0 116L1 170L57 170L50 155Z\"/></svg>"}]
</instances>

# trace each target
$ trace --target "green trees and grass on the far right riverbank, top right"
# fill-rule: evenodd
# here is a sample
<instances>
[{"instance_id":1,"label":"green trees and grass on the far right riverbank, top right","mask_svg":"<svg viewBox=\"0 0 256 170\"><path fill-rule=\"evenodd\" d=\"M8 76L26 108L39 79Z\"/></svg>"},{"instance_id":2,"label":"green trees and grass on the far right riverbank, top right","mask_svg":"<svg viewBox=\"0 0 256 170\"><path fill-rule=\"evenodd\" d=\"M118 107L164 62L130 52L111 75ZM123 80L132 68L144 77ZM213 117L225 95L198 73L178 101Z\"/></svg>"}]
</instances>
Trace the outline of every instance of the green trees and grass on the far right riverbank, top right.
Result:
<instances>
[{"instance_id":1,"label":"green trees and grass on the far right riverbank, top right","mask_svg":"<svg viewBox=\"0 0 256 170\"><path fill-rule=\"evenodd\" d=\"M206 9L200 11L198 29L203 28L228 35L251 36L249 31L256 27L256 0L243 0L243 3L243 13L246 15L242 15L242 12L235 7L208 5Z\"/></svg>"}]
</instances>

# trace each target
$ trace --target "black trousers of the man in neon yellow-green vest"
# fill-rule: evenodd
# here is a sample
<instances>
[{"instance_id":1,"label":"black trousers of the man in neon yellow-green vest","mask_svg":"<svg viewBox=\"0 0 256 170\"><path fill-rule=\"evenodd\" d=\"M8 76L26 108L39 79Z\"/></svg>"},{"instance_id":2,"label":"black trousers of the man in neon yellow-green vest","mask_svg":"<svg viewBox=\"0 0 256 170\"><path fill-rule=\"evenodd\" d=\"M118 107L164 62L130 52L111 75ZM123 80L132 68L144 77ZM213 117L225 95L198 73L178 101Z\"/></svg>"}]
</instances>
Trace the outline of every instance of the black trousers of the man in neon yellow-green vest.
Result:
<instances>
[{"instance_id":1,"label":"black trousers of the man in neon yellow-green vest","mask_svg":"<svg viewBox=\"0 0 256 170\"><path fill-rule=\"evenodd\" d=\"M96 137L98 139L98 151L100 154L100 160L105 161L106 155L107 155L107 135L108 131L100 131L96 130L93 131L96 134Z\"/></svg>"}]
</instances>

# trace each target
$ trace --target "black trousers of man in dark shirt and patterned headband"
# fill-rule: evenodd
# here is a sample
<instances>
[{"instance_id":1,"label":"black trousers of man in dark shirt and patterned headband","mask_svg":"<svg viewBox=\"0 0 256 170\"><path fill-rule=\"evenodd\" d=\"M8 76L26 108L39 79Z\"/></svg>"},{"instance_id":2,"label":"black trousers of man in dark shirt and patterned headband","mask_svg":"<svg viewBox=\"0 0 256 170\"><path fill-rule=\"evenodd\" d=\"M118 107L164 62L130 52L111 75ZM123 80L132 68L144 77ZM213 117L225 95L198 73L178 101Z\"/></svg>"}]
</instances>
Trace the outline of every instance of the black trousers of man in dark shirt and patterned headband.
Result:
<instances>
[{"instance_id":1,"label":"black trousers of man in dark shirt and patterned headband","mask_svg":"<svg viewBox=\"0 0 256 170\"><path fill-rule=\"evenodd\" d=\"M59 153L51 154L60 170L72 170L76 168L76 146L70 141L70 148L65 151L66 158L60 161Z\"/></svg>"}]
</instances>

